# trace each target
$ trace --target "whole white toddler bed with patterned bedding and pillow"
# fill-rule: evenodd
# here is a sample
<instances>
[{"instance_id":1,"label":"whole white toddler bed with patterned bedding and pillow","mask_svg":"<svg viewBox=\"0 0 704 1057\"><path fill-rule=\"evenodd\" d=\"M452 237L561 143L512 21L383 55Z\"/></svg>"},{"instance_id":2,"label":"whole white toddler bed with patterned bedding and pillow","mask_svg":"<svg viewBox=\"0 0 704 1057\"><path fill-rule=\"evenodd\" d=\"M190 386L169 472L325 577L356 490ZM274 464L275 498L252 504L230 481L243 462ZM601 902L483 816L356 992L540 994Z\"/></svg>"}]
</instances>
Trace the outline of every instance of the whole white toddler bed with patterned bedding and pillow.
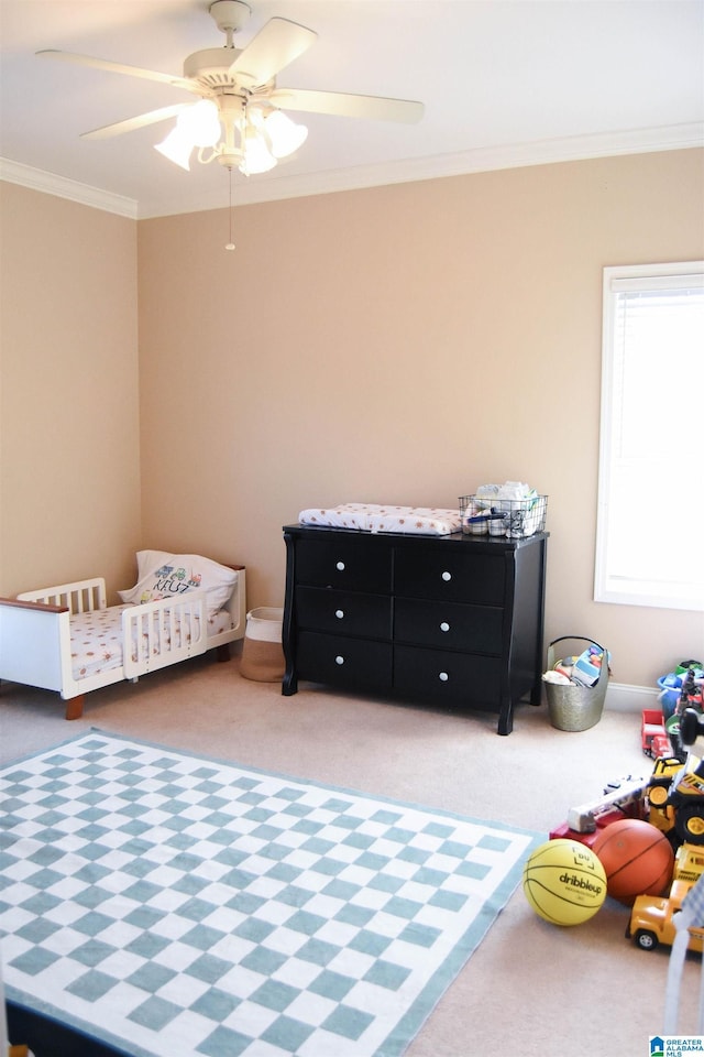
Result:
<instances>
[{"instance_id":1,"label":"whole white toddler bed with patterned bedding and pillow","mask_svg":"<svg viewBox=\"0 0 704 1057\"><path fill-rule=\"evenodd\" d=\"M245 569L201 555L140 551L138 582L107 606L102 577L0 598L0 679L57 690L66 719L90 690L244 638Z\"/></svg>"}]
</instances>

